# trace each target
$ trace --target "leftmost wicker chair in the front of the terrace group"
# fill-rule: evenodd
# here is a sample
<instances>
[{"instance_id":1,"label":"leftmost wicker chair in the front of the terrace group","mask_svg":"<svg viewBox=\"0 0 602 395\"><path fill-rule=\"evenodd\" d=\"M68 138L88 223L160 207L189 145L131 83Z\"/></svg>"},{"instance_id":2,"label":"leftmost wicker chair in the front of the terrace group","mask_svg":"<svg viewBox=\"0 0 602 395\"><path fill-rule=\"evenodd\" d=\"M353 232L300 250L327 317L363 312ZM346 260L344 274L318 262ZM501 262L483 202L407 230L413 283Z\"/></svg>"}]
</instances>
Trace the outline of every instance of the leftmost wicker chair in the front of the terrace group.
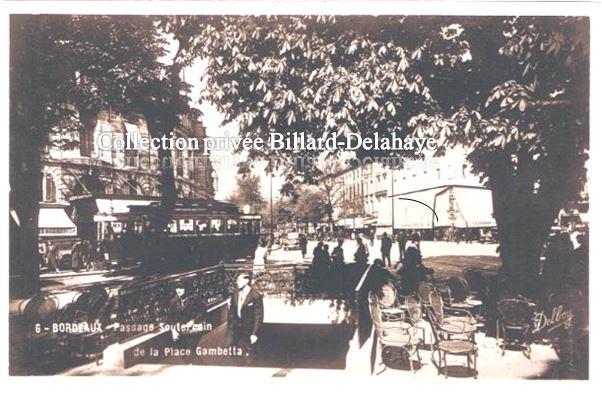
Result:
<instances>
[{"instance_id":1,"label":"leftmost wicker chair in the front of the terrace group","mask_svg":"<svg viewBox=\"0 0 602 395\"><path fill-rule=\"evenodd\" d=\"M422 344L422 339L417 336L419 328L412 325L404 325L407 323L403 321L397 321L397 325L393 325L395 321L390 321L388 323L384 322L382 320L383 315L378 303L378 297L373 293L370 293L368 298L370 303L370 317L372 318L372 324L376 335L376 354L377 356L380 356L380 364L385 366L383 371L386 369L386 365L384 364L382 355L392 348L398 348L405 351L408 355L410 370L415 373L412 357L416 355L418 362L421 362L420 345Z\"/></svg>"}]
</instances>

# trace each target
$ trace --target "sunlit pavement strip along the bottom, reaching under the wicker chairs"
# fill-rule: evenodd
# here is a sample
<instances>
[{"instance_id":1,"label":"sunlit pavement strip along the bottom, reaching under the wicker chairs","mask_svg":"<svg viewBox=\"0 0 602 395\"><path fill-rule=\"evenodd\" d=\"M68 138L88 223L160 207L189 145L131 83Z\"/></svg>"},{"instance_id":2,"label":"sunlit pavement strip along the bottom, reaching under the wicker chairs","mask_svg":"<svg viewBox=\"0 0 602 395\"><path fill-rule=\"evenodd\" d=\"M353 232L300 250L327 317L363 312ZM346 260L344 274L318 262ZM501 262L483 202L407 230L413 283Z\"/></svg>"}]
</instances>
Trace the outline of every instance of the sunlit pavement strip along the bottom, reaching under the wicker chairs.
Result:
<instances>
[{"instance_id":1,"label":"sunlit pavement strip along the bottom, reaching under the wicker chairs","mask_svg":"<svg viewBox=\"0 0 602 395\"><path fill-rule=\"evenodd\" d=\"M427 343L430 341L430 333L427 332ZM477 358L477 369L479 379L558 379L560 376L559 359L551 346L532 345L531 358L528 359L519 350L506 350L504 356L493 337L486 337L483 333L476 336L479 347ZM64 375L125 375L125 376L152 376L166 375L168 377L191 377L191 375L219 374L227 377L293 377L316 380L317 378L335 379L341 377L370 377L385 379L410 379L410 380L445 380L443 374L439 374L434 361L436 353L431 354L429 346L421 350L422 364L415 364L416 372L411 373L409 365L389 364L383 370L383 366L376 366L374 373L370 371L370 353L372 350L371 340L367 341L360 349L357 339L349 341L344 369L313 369L313 368L291 368L289 367L244 367L237 366L209 366L209 365L186 365L186 364L139 364L123 370L110 360L105 360L101 365L89 363L65 371ZM449 380L472 380L468 377L465 357L448 356ZM248 375L248 376L247 376Z\"/></svg>"}]
</instances>

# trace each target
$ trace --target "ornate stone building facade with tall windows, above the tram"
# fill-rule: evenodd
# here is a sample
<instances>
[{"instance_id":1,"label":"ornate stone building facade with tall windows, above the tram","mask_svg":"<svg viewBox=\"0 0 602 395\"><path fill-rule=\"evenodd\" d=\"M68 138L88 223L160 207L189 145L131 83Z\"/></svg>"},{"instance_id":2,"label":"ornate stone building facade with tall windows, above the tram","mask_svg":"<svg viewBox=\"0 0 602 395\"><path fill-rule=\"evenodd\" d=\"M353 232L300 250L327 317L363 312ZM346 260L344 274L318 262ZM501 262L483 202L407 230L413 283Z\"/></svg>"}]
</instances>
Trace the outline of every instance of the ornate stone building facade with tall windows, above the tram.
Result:
<instances>
[{"instance_id":1,"label":"ornate stone building facade with tall windows, above the tram","mask_svg":"<svg viewBox=\"0 0 602 395\"><path fill-rule=\"evenodd\" d=\"M160 168L155 150L107 147L101 134L113 139L130 136L150 137L146 122L136 114L120 114L111 109L98 114L95 125L78 133L60 135L51 141L42 158L41 192L44 203L65 203L78 196L161 196ZM202 123L180 116L178 137L205 137ZM58 139L58 137L55 137ZM214 174L209 156L200 150L172 151L173 171L179 197L213 198Z\"/></svg>"}]
</instances>

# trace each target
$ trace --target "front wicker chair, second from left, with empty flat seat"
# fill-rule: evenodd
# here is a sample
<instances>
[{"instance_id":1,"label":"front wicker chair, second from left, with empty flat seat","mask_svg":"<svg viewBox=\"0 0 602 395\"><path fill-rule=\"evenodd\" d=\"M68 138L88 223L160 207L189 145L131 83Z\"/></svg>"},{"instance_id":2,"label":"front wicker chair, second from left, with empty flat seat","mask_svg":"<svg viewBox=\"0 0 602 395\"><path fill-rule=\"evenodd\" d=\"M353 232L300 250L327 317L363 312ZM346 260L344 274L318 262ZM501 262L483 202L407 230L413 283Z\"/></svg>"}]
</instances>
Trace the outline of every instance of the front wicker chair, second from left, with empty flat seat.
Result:
<instances>
[{"instance_id":1,"label":"front wicker chair, second from left, with empty flat seat","mask_svg":"<svg viewBox=\"0 0 602 395\"><path fill-rule=\"evenodd\" d=\"M474 369L474 374L472 376L476 379L479 375L477 370L478 347L474 342L474 339L450 339L449 334L442 331L440 329L441 327L437 325L438 318L435 316L434 312L431 309L427 309L427 314L429 317L428 321L430 322L433 331L433 347L439 355L439 363L437 364L433 361L437 367L437 374L441 373L441 367L443 367L443 374L445 375L445 378L448 377L448 355L464 356L466 357L466 369L468 374L470 375L472 373L471 368Z\"/></svg>"}]
</instances>

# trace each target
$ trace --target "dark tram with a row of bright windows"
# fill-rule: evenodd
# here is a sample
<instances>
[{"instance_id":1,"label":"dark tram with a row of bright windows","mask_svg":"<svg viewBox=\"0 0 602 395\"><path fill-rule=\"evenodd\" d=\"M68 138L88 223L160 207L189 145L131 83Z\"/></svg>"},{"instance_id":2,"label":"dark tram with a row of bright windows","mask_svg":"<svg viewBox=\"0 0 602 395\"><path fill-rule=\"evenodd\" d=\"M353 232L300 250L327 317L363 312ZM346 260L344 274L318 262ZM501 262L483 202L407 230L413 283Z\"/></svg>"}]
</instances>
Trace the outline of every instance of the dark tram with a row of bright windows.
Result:
<instances>
[{"instance_id":1,"label":"dark tram with a row of bright windows","mask_svg":"<svg viewBox=\"0 0 602 395\"><path fill-rule=\"evenodd\" d=\"M202 268L251 258L257 249L261 217L240 212L231 203L180 199L162 231L150 226L162 214L160 202L129 208L115 239L120 258L126 263L159 266L167 271Z\"/></svg>"}]
</instances>

